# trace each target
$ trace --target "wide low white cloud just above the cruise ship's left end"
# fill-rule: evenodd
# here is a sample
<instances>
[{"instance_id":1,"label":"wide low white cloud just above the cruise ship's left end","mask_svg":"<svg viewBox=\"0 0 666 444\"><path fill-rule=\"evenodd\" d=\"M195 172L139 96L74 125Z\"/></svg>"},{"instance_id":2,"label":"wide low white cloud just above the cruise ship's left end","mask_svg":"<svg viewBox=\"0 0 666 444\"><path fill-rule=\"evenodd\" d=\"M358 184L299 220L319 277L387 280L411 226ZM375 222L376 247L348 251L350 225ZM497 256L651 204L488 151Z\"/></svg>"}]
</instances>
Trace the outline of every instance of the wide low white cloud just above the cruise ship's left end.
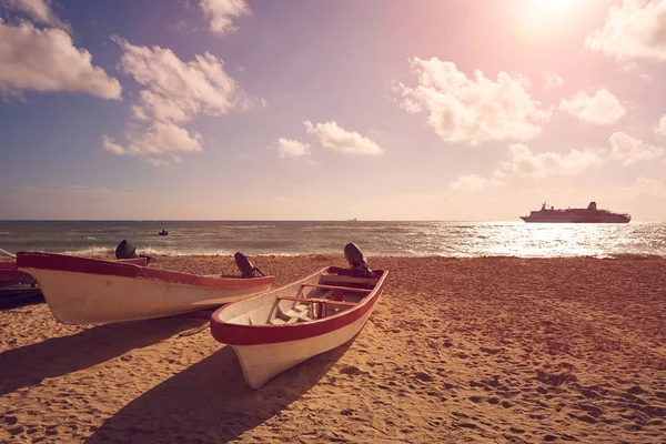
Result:
<instances>
[{"instance_id":1,"label":"wide low white cloud just above the cruise ship's left end","mask_svg":"<svg viewBox=\"0 0 666 444\"><path fill-rule=\"evenodd\" d=\"M508 147L509 160L502 162L498 173L523 178L544 179L553 175L575 175L591 167L604 163L602 151L596 149L533 153L528 147L514 143Z\"/></svg>"}]
</instances>

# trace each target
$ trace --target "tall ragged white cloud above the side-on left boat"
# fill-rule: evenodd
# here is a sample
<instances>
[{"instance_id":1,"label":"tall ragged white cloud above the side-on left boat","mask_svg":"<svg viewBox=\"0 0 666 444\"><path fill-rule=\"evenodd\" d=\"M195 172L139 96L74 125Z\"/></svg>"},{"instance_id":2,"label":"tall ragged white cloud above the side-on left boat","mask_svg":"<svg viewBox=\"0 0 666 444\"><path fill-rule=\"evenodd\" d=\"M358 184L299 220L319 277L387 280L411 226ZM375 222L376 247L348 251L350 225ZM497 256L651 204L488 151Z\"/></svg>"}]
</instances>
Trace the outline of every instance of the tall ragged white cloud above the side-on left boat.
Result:
<instances>
[{"instance_id":1,"label":"tall ragged white cloud above the side-on left boat","mask_svg":"<svg viewBox=\"0 0 666 444\"><path fill-rule=\"evenodd\" d=\"M224 71L222 60L204 53L183 62L173 51L160 47L138 47L113 37L123 54L122 70L145 89L132 105L133 118L145 122L125 132L124 148L104 137L104 148L115 154L141 155L153 165L182 159L174 153L202 151L202 138L176 123L200 114L220 117L233 109L249 107L245 92ZM141 125L145 128L140 129ZM165 155L169 160L157 158Z\"/></svg>"}]
</instances>

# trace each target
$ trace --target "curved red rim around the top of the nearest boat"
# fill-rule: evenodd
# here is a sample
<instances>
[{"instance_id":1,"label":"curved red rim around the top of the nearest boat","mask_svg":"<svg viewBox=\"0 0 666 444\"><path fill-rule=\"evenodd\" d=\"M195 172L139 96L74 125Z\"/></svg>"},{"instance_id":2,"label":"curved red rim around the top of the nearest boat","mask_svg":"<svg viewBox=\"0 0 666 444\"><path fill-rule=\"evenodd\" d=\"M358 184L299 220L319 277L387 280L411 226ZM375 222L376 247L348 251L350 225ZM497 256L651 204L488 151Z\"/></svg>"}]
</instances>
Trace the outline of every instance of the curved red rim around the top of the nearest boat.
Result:
<instances>
[{"instance_id":1,"label":"curved red rim around the top of the nearest boat","mask_svg":"<svg viewBox=\"0 0 666 444\"><path fill-rule=\"evenodd\" d=\"M246 297L242 301L233 302L218 309L211 315L211 334L213 337L223 344L229 345L265 345L275 344L290 341L300 341L309 337L320 336L342 329L346 325L351 325L359 319L363 317L369 311L371 311L375 303L379 301L383 290L387 270L376 270L381 272L381 276L377 280L374 289L370 292L359 304L355 306L344 310L340 313L326 316L324 319L309 321L302 324L283 324L283 325L271 325L271 324L234 324L220 319L220 314L224 310L229 310L236 303L246 303L254 299L268 297L268 294L273 293L275 300L279 297L280 291L286 290L294 285L302 285L310 279L326 273L331 266L326 266L306 278L300 279L299 281L291 282L280 289L270 290L261 294Z\"/></svg>"}]
</instances>

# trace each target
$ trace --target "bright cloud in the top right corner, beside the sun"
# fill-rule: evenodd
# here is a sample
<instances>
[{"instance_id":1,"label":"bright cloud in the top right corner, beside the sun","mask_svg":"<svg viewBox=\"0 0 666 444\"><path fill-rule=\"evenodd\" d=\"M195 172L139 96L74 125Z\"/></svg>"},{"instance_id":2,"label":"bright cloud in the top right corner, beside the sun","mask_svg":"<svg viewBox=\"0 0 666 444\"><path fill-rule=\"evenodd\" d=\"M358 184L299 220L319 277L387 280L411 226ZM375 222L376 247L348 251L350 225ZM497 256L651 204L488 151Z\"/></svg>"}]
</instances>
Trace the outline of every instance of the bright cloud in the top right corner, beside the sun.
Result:
<instances>
[{"instance_id":1,"label":"bright cloud in the top right corner, beside the sun","mask_svg":"<svg viewBox=\"0 0 666 444\"><path fill-rule=\"evenodd\" d=\"M585 46L616 60L666 60L666 0L624 0L613 6L606 23Z\"/></svg>"}]
</instances>

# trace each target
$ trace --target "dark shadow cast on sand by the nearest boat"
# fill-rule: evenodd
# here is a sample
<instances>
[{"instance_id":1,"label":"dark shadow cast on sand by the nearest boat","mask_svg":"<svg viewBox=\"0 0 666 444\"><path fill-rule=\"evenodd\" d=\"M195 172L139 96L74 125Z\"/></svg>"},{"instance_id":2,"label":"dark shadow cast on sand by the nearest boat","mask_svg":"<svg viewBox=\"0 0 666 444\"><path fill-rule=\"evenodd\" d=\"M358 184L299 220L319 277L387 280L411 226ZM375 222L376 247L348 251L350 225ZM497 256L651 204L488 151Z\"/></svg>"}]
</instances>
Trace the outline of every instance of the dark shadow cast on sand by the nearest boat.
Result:
<instances>
[{"instance_id":1,"label":"dark shadow cast on sand by the nearest boat","mask_svg":"<svg viewBox=\"0 0 666 444\"><path fill-rule=\"evenodd\" d=\"M85 442L108 443L130 434L137 442L238 438L306 393L354 340L287 370L259 390L245 383L235 353L224 346L137 397Z\"/></svg>"}]
</instances>

